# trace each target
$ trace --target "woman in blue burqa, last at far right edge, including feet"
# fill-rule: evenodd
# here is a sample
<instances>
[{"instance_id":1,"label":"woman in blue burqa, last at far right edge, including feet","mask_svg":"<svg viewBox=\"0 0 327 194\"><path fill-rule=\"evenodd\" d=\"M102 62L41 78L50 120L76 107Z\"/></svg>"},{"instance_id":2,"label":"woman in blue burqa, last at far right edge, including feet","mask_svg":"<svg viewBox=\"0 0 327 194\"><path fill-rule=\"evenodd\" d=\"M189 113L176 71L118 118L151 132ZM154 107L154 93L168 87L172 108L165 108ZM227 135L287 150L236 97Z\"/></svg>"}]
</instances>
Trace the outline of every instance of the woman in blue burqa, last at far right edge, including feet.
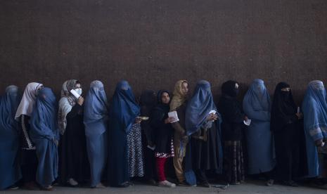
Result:
<instances>
[{"instance_id":1,"label":"woman in blue burqa, last at far right edge, including feet","mask_svg":"<svg viewBox=\"0 0 327 194\"><path fill-rule=\"evenodd\" d=\"M302 103L307 147L308 178L318 186L327 183L327 95L323 82L309 83Z\"/></svg>"}]
</instances>

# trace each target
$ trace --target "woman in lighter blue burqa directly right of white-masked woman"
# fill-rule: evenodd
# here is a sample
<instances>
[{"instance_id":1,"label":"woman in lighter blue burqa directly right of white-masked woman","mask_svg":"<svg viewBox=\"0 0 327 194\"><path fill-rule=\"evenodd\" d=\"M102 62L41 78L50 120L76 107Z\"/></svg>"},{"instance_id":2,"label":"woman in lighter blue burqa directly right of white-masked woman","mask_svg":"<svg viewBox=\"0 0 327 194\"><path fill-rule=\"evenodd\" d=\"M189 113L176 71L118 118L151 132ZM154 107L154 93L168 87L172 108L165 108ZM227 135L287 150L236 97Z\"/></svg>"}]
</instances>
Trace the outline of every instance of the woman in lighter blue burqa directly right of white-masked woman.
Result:
<instances>
[{"instance_id":1,"label":"woman in lighter blue burqa directly right of white-masked woman","mask_svg":"<svg viewBox=\"0 0 327 194\"><path fill-rule=\"evenodd\" d=\"M91 82L84 107L86 149L91 169L91 188L105 188L101 183L107 160L108 101L102 82Z\"/></svg>"}]
</instances>

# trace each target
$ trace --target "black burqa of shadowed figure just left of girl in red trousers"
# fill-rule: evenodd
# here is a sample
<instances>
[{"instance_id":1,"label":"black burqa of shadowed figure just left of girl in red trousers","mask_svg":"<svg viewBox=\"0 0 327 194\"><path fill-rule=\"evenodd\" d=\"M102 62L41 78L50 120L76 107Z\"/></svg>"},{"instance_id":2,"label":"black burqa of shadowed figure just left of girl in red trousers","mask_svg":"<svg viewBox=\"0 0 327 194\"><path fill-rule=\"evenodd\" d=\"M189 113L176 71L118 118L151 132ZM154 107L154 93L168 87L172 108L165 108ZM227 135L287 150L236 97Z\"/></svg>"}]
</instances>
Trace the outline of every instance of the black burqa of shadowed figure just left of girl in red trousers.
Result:
<instances>
[{"instance_id":1,"label":"black burqa of shadowed figure just left of girl in red trousers","mask_svg":"<svg viewBox=\"0 0 327 194\"><path fill-rule=\"evenodd\" d=\"M155 91L149 89L142 91L140 98L141 116L150 117L151 119L151 111L156 103ZM146 180L155 179L155 153L154 150L148 148L148 145L154 145L154 134L153 128L150 125L150 119L141 122L145 166L144 179Z\"/></svg>"}]
</instances>

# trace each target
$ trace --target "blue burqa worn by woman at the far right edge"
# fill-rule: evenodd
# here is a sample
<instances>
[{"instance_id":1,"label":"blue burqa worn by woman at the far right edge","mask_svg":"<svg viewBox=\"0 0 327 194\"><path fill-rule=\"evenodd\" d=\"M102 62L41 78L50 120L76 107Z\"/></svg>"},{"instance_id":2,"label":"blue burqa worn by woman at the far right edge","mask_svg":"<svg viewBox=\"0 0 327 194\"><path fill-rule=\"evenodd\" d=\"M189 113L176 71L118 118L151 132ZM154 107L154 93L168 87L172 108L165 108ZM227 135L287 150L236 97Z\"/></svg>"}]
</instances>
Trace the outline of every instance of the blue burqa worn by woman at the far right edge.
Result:
<instances>
[{"instance_id":1,"label":"blue burqa worn by woman at the far right edge","mask_svg":"<svg viewBox=\"0 0 327 194\"><path fill-rule=\"evenodd\" d=\"M314 141L327 138L326 101L327 95L323 82L310 82L302 103L304 134L307 147L308 177L319 176L319 159Z\"/></svg>"}]
</instances>

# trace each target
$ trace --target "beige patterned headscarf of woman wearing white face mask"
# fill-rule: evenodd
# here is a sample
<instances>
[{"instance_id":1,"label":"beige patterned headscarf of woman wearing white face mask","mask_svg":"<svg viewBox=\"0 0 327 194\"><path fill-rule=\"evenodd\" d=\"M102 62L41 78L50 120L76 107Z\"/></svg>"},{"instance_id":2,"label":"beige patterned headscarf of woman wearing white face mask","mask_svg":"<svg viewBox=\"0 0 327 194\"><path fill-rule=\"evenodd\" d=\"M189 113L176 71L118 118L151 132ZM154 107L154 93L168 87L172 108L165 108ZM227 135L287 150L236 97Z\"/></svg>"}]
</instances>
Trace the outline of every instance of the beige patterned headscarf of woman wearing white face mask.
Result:
<instances>
[{"instance_id":1,"label":"beige patterned headscarf of woman wearing white face mask","mask_svg":"<svg viewBox=\"0 0 327 194\"><path fill-rule=\"evenodd\" d=\"M76 104L77 99L75 96L70 93L70 90L74 89L76 86L77 80L70 79L63 83L63 88L61 89L61 98L59 101L59 110L58 110L58 127L60 134L65 133L67 126L66 116L72 110L72 107Z\"/></svg>"}]
</instances>

